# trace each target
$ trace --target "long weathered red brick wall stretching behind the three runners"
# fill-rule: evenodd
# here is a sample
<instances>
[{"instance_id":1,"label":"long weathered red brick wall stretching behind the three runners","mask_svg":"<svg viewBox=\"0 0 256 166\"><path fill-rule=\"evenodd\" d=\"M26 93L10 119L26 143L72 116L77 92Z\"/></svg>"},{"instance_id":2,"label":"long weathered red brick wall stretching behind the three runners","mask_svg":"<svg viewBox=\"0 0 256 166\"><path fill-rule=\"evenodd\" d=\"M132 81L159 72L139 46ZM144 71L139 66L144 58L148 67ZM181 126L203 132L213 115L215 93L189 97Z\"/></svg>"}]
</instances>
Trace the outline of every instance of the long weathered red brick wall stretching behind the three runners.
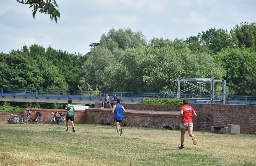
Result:
<instances>
[{"instance_id":1,"label":"long weathered red brick wall stretching behind the three runners","mask_svg":"<svg viewBox=\"0 0 256 166\"><path fill-rule=\"evenodd\" d=\"M154 105L154 104L122 104L126 110L133 110L124 114L123 124L131 126L145 126L163 128L169 126L175 129L180 124L177 119L179 107L181 105ZM197 117L193 119L194 130L210 131L211 126L227 127L228 124L240 125L242 133L256 133L256 105L239 105L239 104L189 104L197 113ZM108 106L108 105L106 105ZM95 103L95 108L76 110L75 120L81 123L103 122L104 124L112 124L114 116L111 109L99 109L101 103ZM0 112L0 120L8 120L10 114L25 115L28 108L23 109L20 113ZM136 110L136 111L134 111ZM141 112L140 112L141 110ZM143 110L155 111L173 111L172 114L150 114L143 113ZM33 109L35 112L41 112L48 122L51 117L52 109ZM66 113L65 110L55 110L57 112Z\"/></svg>"}]
</instances>

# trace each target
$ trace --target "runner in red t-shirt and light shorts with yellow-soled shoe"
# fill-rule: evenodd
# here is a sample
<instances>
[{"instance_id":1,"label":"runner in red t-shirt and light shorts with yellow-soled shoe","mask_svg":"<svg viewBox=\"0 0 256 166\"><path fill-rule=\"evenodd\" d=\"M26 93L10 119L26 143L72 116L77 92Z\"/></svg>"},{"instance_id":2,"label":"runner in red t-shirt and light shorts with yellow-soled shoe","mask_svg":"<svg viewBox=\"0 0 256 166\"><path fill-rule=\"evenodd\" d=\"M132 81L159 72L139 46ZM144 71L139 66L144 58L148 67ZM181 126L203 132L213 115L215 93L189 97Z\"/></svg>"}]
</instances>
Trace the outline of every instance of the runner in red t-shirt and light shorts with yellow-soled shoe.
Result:
<instances>
[{"instance_id":1,"label":"runner in red t-shirt and light shorts with yellow-soled shoe","mask_svg":"<svg viewBox=\"0 0 256 166\"><path fill-rule=\"evenodd\" d=\"M181 145L178 146L179 149L183 149L184 147L184 140L185 140L185 132L186 129L188 131L188 134L190 137L192 137L194 145L197 144L196 137L193 134L193 121L192 119L197 116L197 113L195 112L194 108L187 105L188 99L183 100L183 106L180 107L180 114L177 116L178 119L181 118Z\"/></svg>"}]
</instances>

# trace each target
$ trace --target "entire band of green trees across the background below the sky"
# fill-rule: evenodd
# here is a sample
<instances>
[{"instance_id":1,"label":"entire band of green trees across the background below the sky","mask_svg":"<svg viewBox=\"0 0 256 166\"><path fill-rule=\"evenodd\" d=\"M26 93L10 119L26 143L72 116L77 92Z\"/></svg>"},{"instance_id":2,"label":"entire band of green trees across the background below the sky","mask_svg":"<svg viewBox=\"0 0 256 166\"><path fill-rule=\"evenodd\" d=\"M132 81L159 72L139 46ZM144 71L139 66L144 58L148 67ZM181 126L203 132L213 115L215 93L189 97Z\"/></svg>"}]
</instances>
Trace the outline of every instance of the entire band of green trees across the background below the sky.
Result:
<instances>
[{"instance_id":1,"label":"entire band of green trees across the background below the sky","mask_svg":"<svg viewBox=\"0 0 256 166\"><path fill-rule=\"evenodd\" d=\"M213 28L186 41L152 38L148 43L141 32L111 28L99 43L90 45L87 56L69 54L51 46L47 49L37 44L23 46L9 54L0 53L0 87L79 89L81 95L99 95L99 90L175 93L178 75L181 78L214 76L227 81L227 94L255 95L255 27L255 22L245 22L234 26L230 34ZM182 89L188 86L181 83ZM215 85L215 89L220 87ZM210 89L209 84L202 88ZM187 93L204 92L194 88ZM10 104L63 108L63 104L53 103Z\"/></svg>"}]
</instances>

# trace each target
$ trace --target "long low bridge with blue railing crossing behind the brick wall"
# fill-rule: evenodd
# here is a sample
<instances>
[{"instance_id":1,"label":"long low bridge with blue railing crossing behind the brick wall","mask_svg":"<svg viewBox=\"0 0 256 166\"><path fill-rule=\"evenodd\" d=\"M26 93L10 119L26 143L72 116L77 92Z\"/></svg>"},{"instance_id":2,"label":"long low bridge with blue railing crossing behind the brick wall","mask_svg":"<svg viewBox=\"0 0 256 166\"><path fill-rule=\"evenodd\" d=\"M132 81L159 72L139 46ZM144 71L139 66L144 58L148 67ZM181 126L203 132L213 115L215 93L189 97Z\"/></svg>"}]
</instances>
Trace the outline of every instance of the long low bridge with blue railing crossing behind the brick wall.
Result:
<instances>
[{"instance_id":1,"label":"long low bridge with blue railing crossing behind the brick wall","mask_svg":"<svg viewBox=\"0 0 256 166\"><path fill-rule=\"evenodd\" d=\"M104 101L108 92L112 97L114 92L109 91L80 91L61 89L23 89L23 88L0 88L0 101L12 102L41 102L41 103L67 103L69 99L77 104L95 104ZM163 99L177 98L177 93L154 93L154 92L115 92L122 103L137 104L144 98ZM205 94L180 94L179 98L188 98L190 103L209 103L211 95ZM215 104L221 104L221 95L214 95ZM253 104L256 105L256 96L233 96L226 95L226 104Z\"/></svg>"}]
</instances>

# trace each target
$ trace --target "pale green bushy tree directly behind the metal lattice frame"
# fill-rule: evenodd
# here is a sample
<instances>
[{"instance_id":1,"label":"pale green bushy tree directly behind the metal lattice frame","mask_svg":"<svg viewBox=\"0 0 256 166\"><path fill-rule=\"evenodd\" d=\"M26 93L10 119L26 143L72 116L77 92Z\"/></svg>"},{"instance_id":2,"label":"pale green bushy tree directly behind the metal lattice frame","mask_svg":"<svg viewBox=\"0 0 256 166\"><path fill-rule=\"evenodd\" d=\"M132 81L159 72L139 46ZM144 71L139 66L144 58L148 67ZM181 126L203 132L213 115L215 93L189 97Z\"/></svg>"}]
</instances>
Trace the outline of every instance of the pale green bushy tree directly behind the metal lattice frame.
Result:
<instances>
[{"instance_id":1,"label":"pale green bushy tree directly behind the metal lattice frame","mask_svg":"<svg viewBox=\"0 0 256 166\"><path fill-rule=\"evenodd\" d=\"M177 92L178 75L184 78L211 78L215 75L216 79L224 75L224 70L213 62L209 54L191 52L184 40L156 38L150 42L147 53L155 59L151 63L144 62L150 65L145 68L147 72L143 76L150 92ZM161 47L152 47L156 45Z\"/></svg>"}]
</instances>

